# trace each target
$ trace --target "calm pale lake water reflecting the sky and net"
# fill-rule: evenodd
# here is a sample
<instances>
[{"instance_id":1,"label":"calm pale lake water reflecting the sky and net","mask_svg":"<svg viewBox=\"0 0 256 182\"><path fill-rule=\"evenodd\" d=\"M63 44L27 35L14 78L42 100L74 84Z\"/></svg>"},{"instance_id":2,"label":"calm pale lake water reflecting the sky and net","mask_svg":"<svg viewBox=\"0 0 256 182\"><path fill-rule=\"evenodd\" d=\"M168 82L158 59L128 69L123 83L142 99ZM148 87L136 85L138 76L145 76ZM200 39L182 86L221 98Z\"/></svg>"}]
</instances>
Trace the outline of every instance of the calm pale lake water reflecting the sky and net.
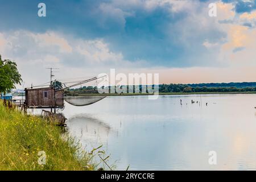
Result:
<instances>
[{"instance_id":1,"label":"calm pale lake water reflecting the sky and net","mask_svg":"<svg viewBox=\"0 0 256 182\"><path fill-rule=\"evenodd\" d=\"M65 103L63 112L69 133L88 151L103 144L117 169L248 170L256 169L255 106L255 94L122 96ZM209 151L217 165L209 165Z\"/></svg>"}]
</instances>

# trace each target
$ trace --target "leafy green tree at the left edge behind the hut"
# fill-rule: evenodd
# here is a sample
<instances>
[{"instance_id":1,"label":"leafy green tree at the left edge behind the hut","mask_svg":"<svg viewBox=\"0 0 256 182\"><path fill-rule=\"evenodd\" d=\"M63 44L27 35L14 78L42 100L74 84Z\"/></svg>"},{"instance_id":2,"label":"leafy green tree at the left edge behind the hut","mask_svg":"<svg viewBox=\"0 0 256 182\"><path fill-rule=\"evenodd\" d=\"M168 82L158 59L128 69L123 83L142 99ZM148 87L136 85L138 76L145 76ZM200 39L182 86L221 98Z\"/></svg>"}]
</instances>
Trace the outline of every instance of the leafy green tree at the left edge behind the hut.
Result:
<instances>
[{"instance_id":1,"label":"leafy green tree at the left edge behind the hut","mask_svg":"<svg viewBox=\"0 0 256 182\"><path fill-rule=\"evenodd\" d=\"M15 84L20 84L21 81L16 63L2 60L0 55L0 92L10 92L11 89L15 89Z\"/></svg>"}]
</instances>

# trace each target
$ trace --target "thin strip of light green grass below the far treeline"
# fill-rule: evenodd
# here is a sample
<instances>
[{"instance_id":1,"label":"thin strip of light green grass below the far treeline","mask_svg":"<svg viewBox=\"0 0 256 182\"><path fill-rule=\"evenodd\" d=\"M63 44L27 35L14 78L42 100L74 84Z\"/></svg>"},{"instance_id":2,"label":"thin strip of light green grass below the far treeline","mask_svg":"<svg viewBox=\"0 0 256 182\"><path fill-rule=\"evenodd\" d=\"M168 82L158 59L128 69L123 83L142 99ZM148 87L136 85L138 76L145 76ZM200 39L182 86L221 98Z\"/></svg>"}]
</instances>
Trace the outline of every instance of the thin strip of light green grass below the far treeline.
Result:
<instances>
[{"instance_id":1,"label":"thin strip of light green grass below the far treeline","mask_svg":"<svg viewBox=\"0 0 256 182\"><path fill-rule=\"evenodd\" d=\"M117 93L109 93L109 94L99 94L99 93L79 93L75 92L76 96L148 96L152 94L148 93L122 93L122 94L117 94ZM167 92L163 93L160 92L159 95L190 95L190 94L256 94L256 92ZM70 92L70 96L73 96L74 93Z\"/></svg>"}]
</instances>

